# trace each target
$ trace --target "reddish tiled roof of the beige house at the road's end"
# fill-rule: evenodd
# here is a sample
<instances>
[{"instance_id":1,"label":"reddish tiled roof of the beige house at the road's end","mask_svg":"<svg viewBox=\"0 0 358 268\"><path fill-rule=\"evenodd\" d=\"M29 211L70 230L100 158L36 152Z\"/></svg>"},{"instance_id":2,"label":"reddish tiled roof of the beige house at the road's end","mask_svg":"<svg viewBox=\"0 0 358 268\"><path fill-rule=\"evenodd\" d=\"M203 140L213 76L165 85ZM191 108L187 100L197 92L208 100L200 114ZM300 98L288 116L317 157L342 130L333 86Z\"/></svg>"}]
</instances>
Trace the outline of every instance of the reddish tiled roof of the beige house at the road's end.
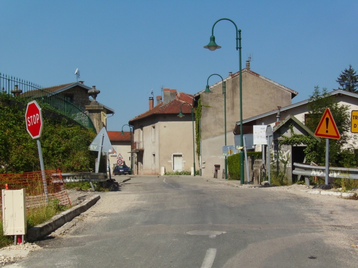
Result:
<instances>
[{"instance_id":1,"label":"reddish tiled roof of the beige house at the road's end","mask_svg":"<svg viewBox=\"0 0 358 268\"><path fill-rule=\"evenodd\" d=\"M193 95L186 94L183 92L179 92L175 99L172 101L169 101L167 104L163 104L163 102L160 102L158 105L154 106L152 110L149 110L133 119L131 119L129 122L134 122L152 115L162 115L162 114L174 114L178 115L180 112L180 106L181 104L187 102L190 105L193 103ZM181 112L183 114L190 114L191 113L191 107L188 104L185 104L181 106Z\"/></svg>"}]
</instances>

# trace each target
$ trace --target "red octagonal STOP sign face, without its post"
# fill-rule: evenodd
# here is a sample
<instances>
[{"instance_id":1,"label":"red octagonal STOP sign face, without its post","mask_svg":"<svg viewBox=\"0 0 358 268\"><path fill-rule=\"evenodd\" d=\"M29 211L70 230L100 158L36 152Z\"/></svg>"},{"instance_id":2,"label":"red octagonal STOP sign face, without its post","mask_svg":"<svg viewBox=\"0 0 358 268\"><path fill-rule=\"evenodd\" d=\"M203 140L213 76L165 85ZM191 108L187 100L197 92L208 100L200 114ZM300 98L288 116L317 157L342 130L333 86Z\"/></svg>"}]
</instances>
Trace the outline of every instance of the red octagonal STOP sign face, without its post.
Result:
<instances>
[{"instance_id":1,"label":"red octagonal STOP sign face, without its post","mask_svg":"<svg viewBox=\"0 0 358 268\"><path fill-rule=\"evenodd\" d=\"M32 139L40 138L44 122L42 120L41 108L36 100L27 103L25 120L27 132Z\"/></svg>"}]
</instances>

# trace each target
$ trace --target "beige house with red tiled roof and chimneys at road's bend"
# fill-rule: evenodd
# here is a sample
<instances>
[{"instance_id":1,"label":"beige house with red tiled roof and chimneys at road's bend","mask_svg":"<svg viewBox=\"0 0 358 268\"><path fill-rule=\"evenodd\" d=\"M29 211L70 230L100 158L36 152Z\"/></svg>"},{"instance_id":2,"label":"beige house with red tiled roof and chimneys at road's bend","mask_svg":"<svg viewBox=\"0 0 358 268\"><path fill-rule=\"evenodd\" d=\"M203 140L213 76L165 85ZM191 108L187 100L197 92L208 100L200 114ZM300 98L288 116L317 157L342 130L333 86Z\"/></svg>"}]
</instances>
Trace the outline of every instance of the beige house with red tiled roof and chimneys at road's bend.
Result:
<instances>
[{"instance_id":1,"label":"beige house with red tiled roof and chimneys at road's bend","mask_svg":"<svg viewBox=\"0 0 358 268\"><path fill-rule=\"evenodd\" d=\"M155 106L150 97L149 110L129 121L134 129L134 174L158 175L193 168L193 96L173 89L163 89L163 95L163 101L161 96L156 98ZM180 110L182 118L178 117Z\"/></svg>"}]
</instances>

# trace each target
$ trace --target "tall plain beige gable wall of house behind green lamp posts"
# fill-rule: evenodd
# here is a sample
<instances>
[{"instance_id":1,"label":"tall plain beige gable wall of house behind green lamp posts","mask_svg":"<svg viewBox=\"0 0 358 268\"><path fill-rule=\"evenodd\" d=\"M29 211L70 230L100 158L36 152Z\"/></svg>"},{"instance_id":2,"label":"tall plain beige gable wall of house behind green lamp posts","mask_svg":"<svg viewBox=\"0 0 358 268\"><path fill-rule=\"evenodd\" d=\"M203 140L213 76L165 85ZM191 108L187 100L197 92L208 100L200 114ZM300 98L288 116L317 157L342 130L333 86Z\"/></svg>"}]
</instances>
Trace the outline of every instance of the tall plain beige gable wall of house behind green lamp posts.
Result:
<instances>
[{"instance_id":1,"label":"tall plain beige gable wall of house behind green lamp posts","mask_svg":"<svg viewBox=\"0 0 358 268\"><path fill-rule=\"evenodd\" d=\"M237 119L240 118L239 72L224 79L226 82L227 145L234 145ZM212 93L201 91L194 95L194 106L199 99L202 106L201 117L201 168L202 175L212 177L214 165L220 165L218 177L222 177L225 157L222 146L225 145L224 131L224 95L223 81L210 86ZM298 93L273 80L250 70L247 65L242 70L242 118L277 110L278 106L290 105L291 99Z\"/></svg>"}]
</instances>

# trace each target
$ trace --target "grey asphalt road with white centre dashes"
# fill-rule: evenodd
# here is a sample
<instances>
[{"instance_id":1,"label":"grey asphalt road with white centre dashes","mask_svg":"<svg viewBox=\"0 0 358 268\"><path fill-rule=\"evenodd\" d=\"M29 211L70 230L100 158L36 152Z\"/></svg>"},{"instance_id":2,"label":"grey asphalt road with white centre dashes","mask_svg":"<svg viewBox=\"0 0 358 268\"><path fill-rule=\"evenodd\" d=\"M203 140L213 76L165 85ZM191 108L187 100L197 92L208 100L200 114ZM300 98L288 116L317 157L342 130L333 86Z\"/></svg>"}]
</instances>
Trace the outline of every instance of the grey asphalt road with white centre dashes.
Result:
<instances>
[{"instance_id":1,"label":"grey asphalt road with white centre dashes","mask_svg":"<svg viewBox=\"0 0 358 268\"><path fill-rule=\"evenodd\" d=\"M101 197L68 233L11 267L357 267L357 249L343 240L357 225L332 226L324 204L302 195L138 176Z\"/></svg>"}]
</instances>

